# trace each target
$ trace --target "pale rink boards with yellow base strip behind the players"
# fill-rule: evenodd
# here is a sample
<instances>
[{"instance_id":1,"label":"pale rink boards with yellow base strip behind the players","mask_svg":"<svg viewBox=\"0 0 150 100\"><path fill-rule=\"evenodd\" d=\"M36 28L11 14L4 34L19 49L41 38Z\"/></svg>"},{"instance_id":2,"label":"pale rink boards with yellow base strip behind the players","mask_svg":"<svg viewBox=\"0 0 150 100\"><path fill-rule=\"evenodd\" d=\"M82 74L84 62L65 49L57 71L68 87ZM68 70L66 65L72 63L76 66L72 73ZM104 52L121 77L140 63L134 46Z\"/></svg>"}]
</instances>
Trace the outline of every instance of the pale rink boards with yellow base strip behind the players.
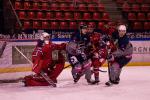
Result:
<instances>
[{"instance_id":1,"label":"pale rink boards with yellow base strip behind the players","mask_svg":"<svg viewBox=\"0 0 150 100\"><path fill-rule=\"evenodd\" d=\"M150 41L131 42L134 48L133 59L127 66L150 66ZM36 42L31 41L9 42L0 58L0 73L31 71L32 64L24 57L19 56L20 53L14 49L14 46L20 47L19 49L31 60L31 53L35 45ZM66 62L65 66L68 65L69 63ZM107 63L104 66L107 66Z\"/></svg>"}]
</instances>

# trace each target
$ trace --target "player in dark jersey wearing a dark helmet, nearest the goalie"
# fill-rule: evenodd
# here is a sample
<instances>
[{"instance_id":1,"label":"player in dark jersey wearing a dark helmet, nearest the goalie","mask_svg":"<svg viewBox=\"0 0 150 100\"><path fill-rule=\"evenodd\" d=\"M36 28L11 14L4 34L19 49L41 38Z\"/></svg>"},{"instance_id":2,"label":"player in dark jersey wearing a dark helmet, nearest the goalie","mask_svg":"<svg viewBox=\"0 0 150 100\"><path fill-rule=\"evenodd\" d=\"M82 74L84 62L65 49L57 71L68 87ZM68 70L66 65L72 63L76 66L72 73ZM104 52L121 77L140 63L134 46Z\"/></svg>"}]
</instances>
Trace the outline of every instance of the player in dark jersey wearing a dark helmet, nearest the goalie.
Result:
<instances>
[{"instance_id":1,"label":"player in dark jersey wearing a dark helmet, nearest the goalie","mask_svg":"<svg viewBox=\"0 0 150 100\"><path fill-rule=\"evenodd\" d=\"M68 60L72 65L72 76L76 83L82 75L85 74L85 79L91 83L91 60L85 54L85 48L90 42L90 37L87 34L87 26L81 25L79 32L71 37L68 43L67 53Z\"/></svg>"}]
</instances>

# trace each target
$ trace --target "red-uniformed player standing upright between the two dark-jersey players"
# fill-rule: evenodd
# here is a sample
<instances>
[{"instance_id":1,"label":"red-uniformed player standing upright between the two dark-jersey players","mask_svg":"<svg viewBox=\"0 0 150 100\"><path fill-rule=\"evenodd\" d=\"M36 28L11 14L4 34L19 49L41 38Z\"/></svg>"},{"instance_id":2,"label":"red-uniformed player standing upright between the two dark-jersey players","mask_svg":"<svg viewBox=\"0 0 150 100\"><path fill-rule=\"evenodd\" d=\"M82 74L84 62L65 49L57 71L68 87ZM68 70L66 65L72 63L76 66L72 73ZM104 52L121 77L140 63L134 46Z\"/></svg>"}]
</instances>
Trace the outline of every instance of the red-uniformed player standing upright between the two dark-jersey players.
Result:
<instances>
[{"instance_id":1,"label":"red-uniformed player standing upright between the two dark-jersey players","mask_svg":"<svg viewBox=\"0 0 150 100\"><path fill-rule=\"evenodd\" d=\"M106 60L106 48L105 44L102 40L102 34L98 32L94 32L94 28L91 25L89 27L89 34L90 34L90 42L92 46L92 65L93 65L93 72L95 77L95 82L93 84L99 83L99 67L101 67L105 60Z\"/></svg>"}]
</instances>

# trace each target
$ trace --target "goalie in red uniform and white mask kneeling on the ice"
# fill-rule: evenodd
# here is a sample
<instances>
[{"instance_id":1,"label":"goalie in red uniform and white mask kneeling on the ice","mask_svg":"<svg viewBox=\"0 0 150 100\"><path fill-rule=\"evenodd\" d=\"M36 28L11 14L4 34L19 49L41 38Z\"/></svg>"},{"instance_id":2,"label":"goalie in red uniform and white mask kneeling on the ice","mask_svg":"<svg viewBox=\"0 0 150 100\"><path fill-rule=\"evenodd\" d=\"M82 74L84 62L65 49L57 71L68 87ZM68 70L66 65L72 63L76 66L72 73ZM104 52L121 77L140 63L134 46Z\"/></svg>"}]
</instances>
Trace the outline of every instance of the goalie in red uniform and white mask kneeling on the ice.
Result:
<instances>
[{"instance_id":1,"label":"goalie in red uniform and white mask kneeling on the ice","mask_svg":"<svg viewBox=\"0 0 150 100\"><path fill-rule=\"evenodd\" d=\"M41 76L44 72L51 80L57 82L57 77L62 72L65 64L61 50L65 49L65 44L54 44L49 41L50 36L44 33L44 40L38 41L38 45L32 53L33 68L35 75L26 76L25 86L48 86L49 83ZM58 60L52 60L52 51L59 50Z\"/></svg>"}]
</instances>

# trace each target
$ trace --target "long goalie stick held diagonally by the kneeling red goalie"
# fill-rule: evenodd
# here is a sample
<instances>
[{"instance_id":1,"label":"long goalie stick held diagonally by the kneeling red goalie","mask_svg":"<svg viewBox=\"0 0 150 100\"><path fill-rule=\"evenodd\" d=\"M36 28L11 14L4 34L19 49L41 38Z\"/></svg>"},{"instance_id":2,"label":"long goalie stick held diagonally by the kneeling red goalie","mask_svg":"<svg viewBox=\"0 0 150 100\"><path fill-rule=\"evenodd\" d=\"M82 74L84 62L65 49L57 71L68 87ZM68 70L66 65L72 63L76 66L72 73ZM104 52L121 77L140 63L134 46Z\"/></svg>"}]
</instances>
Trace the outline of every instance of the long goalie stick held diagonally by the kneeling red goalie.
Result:
<instances>
[{"instance_id":1,"label":"long goalie stick held diagonally by the kneeling red goalie","mask_svg":"<svg viewBox=\"0 0 150 100\"><path fill-rule=\"evenodd\" d=\"M30 64L33 64L16 46L15 46L15 49L26 59L28 60L28 62ZM53 82L52 79L50 79L47 75L44 74L44 72L41 72L40 73L41 76L49 83L49 85L52 85L53 87L56 87L56 84Z\"/></svg>"}]
</instances>

